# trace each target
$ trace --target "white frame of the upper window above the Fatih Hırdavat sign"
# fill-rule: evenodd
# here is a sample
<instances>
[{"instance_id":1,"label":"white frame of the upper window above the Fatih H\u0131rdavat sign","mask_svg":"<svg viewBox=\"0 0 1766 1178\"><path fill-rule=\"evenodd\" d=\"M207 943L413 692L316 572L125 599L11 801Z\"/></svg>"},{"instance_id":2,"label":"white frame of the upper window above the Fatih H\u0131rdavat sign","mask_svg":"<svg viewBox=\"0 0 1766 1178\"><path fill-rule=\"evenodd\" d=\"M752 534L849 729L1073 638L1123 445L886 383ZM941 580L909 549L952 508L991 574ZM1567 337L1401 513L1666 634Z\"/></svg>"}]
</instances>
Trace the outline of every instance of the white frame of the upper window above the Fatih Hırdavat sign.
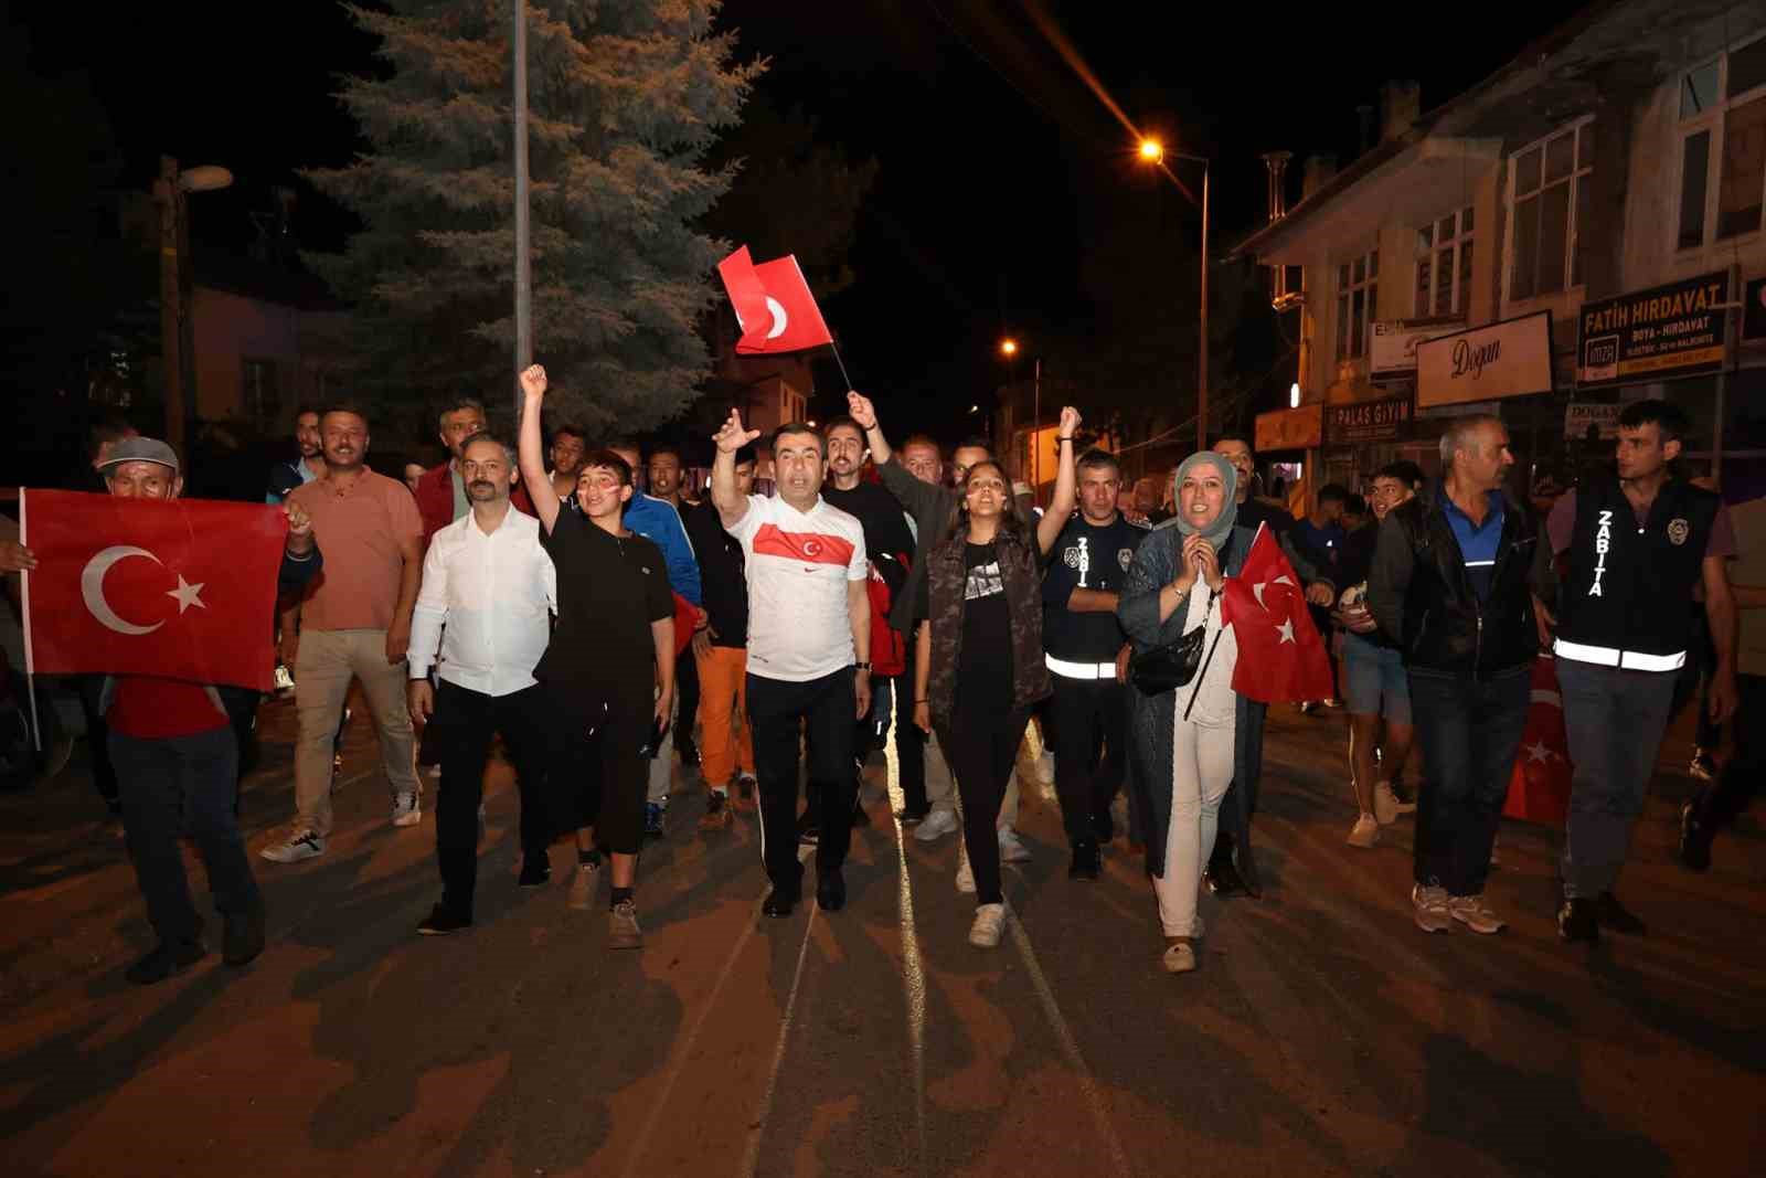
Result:
<instances>
[{"instance_id":1,"label":"white frame of the upper window above the Fatih H\u0131rdavat sign","mask_svg":"<svg viewBox=\"0 0 1766 1178\"><path fill-rule=\"evenodd\" d=\"M1725 46L1679 71L1674 85L1674 215L1669 240L1674 253L1695 253L1718 244L1745 242L1766 230L1766 72L1745 90L1731 94L1736 57L1766 53L1766 32ZM1757 62L1754 62L1757 65ZM1761 175L1754 182L1752 224L1724 223L1724 170L1743 152L1729 143L1731 120L1738 111L1752 113L1757 140L1752 159ZM1702 140L1697 150L1694 140ZM1697 164L1692 157L1697 155ZM1690 166L1692 164L1692 166ZM1745 164L1743 164L1745 166ZM1695 200L1690 200L1695 198ZM1695 217L1695 221L1692 221Z\"/></svg>"}]
</instances>

